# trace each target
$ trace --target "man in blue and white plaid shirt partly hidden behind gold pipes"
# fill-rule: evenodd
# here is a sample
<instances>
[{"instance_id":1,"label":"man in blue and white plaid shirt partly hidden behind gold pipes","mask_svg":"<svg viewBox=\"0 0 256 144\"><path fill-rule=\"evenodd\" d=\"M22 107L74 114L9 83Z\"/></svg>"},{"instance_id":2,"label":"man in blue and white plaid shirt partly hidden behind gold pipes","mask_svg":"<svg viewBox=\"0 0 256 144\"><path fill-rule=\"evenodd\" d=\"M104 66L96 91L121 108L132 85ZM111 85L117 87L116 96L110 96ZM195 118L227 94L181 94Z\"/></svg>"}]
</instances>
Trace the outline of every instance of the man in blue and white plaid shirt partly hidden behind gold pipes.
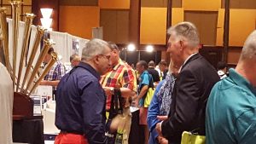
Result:
<instances>
[{"instance_id":1,"label":"man in blue and white plaid shirt partly hidden behind gold pipes","mask_svg":"<svg viewBox=\"0 0 256 144\"><path fill-rule=\"evenodd\" d=\"M44 57L44 64L46 65L51 60L51 53L54 52L53 48L48 50L48 54ZM65 67L61 64L61 61L57 60L54 66L51 67L49 72L45 75L44 80L40 82L40 85L53 86L53 95L55 95L55 89L59 84L61 78L65 75Z\"/></svg>"}]
</instances>

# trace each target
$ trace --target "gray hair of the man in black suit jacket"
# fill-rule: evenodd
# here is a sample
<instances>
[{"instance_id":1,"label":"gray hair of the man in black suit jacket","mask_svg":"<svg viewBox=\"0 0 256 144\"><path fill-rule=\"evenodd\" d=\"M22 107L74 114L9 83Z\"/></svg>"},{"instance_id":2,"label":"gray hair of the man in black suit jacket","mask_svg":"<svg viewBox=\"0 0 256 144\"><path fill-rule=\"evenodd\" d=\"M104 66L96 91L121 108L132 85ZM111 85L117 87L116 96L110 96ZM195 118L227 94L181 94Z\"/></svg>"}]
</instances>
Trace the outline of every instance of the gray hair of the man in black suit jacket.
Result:
<instances>
[{"instance_id":1,"label":"gray hair of the man in black suit jacket","mask_svg":"<svg viewBox=\"0 0 256 144\"><path fill-rule=\"evenodd\" d=\"M180 22L167 30L170 35L175 35L180 40L186 40L191 47L197 47L200 43L199 34L194 24L191 22Z\"/></svg>"}]
</instances>

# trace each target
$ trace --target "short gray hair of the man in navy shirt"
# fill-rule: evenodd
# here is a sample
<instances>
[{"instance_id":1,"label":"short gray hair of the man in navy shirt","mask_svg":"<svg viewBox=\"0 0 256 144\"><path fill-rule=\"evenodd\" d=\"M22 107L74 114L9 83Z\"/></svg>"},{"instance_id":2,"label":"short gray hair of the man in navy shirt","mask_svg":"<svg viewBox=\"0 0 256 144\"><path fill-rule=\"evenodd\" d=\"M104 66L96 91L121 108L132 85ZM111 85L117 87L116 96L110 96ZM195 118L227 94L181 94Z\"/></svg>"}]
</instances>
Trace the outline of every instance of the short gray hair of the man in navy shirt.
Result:
<instances>
[{"instance_id":1,"label":"short gray hair of the man in navy shirt","mask_svg":"<svg viewBox=\"0 0 256 144\"><path fill-rule=\"evenodd\" d=\"M90 60L95 55L102 55L106 47L108 47L108 43L102 39L91 39L83 48L82 60Z\"/></svg>"}]
</instances>

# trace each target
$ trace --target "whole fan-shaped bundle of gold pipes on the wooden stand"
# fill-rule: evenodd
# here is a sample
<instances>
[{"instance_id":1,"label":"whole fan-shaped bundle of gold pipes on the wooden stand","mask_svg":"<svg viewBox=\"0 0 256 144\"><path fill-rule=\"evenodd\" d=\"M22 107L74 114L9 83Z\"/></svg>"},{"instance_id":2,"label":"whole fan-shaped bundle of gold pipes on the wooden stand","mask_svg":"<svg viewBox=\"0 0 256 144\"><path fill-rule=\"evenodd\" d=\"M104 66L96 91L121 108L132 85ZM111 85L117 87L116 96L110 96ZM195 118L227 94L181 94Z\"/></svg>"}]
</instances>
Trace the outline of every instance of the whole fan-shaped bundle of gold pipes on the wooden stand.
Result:
<instances>
[{"instance_id":1,"label":"whole fan-shaped bundle of gold pipes on the wooden stand","mask_svg":"<svg viewBox=\"0 0 256 144\"><path fill-rule=\"evenodd\" d=\"M31 53L29 57L26 57L26 54L28 54L28 50L29 50L27 48L28 48L29 37L32 29L32 20L35 17L34 14L26 14L22 48L20 50L21 51L20 54L17 54L18 36L19 36L18 32L19 32L19 21L20 21L19 8L21 5L21 2L12 1L10 3L12 6L12 19L13 19L12 20L12 24L13 24L12 52L13 54L9 54L9 39L8 39L9 33L8 33L8 26L7 26L7 19L6 19L6 8L0 8L0 25L1 25L1 31L2 31L3 55L4 55L5 66L7 67L7 70L13 80L13 87L15 89L15 92L21 92L23 94L26 94L27 96L30 96L32 92L36 89L40 81L47 74L47 72L49 72L51 66L55 64L55 61L57 60L57 54L55 52L51 53L52 58L47 64L47 66L44 67L43 72L38 71L40 66L43 63L44 56L47 55L49 48L51 48L52 45L54 44L52 40L45 39L43 49L41 50L40 55L38 56L38 59L35 59L37 51L39 50L38 49L39 43L41 42L41 39L44 36L44 32L46 31L44 27L38 26L37 33L32 45L32 49L30 50ZM9 60L9 55L13 55L12 64L10 62L11 60ZM17 55L20 55L20 62L18 65L19 68L16 71ZM26 60L28 61L26 62ZM35 66L32 66L33 63L36 63ZM25 69L25 73L21 74L24 71L24 69ZM31 69L32 69L32 72L31 72Z\"/></svg>"}]
</instances>

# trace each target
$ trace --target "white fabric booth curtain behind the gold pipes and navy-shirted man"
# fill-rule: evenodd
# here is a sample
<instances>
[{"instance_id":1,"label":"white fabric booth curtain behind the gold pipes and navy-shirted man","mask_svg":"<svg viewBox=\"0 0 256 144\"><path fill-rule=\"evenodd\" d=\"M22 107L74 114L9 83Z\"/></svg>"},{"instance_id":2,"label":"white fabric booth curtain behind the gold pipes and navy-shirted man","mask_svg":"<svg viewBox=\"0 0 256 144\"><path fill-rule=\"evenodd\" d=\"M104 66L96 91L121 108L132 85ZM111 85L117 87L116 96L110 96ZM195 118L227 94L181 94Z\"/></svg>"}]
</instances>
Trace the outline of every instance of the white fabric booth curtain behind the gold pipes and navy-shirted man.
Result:
<instances>
[{"instance_id":1,"label":"white fabric booth curtain behind the gold pipes and navy-shirted man","mask_svg":"<svg viewBox=\"0 0 256 144\"><path fill-rule=\"evenodd\" d=\"M7 19L8 25L9 25L9 60L12 66L13 63L13 34L12 34L12 19ZM17 66L16 69L19 68L19 61L20 61L20 54L21 54L21 48L23 44L23 37L24 37L24 30L25 30L25 23L23 21L20 21L19 23L19 37L18 37L18 49L17 49ZM35 36L37 33L37 26L32 25L31 30L31 36L29 40L29 49L28 49L28 60L32 51L32 46L35 40ZM70 55L73 55L73 41L76 41L79 43L79 56L82 55L82 49L84 48L85 43L87 43L89 40L84 39L81 37L76 37L71 34L68 34L67 32L49 32L49 37L55 42L55 45L53 45L53 48L55 49L55 52L57 52L58 55L61 55L61 62L69 62ZM35 66L38 56L40 54L40 44L38 51L36 53L35 59L33 60L33 66ZM18 71L16 71L18 72ZM18 74L18 73L17 73ZM21 77L23 78L23 77Z\"/></svg>"}]
</instances>

